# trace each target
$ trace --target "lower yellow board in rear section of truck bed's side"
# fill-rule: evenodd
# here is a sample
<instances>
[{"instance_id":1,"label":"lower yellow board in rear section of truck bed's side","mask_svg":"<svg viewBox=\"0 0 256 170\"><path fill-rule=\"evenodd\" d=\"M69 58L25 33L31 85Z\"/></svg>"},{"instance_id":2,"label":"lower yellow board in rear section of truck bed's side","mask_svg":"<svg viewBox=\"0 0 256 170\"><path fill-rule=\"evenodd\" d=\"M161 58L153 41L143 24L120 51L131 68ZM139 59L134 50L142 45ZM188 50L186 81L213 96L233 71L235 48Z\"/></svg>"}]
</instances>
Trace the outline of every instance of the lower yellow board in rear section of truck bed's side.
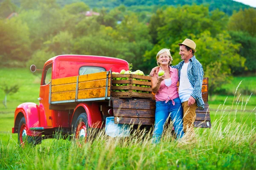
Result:
<instances>
[{"instance_id":1,"label":"lower yellow board in rear section of truck bed's side","mask_svg":"<svg viewBox=\"0 0 256 170\"><path fill-rule=\"evenodd\" d=\"M96 89L84 89L78 91L78 99L85 98L102 98L105 97L105 87ZM108 88L108 96L110 96L110 87Z\"/></svg>"}]
</instances>

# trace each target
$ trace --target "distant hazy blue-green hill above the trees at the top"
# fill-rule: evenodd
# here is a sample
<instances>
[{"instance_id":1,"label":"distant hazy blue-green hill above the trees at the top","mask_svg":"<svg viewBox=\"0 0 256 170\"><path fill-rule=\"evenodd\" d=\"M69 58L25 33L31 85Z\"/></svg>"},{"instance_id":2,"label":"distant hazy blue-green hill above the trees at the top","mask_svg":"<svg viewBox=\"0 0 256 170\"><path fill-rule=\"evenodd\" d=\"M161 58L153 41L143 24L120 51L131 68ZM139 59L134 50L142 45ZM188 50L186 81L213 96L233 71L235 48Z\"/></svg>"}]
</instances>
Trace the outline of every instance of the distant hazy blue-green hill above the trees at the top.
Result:
<instances>
[{"instance_id":1,"label":"distant hazy blue-green hill above the trees at the top","mask_svg":"<svg viewBox=\"0 0 256 170\"><path fill-rule=\"evenodd\" d=\"M4 0L0 0L0 3ZM15 3L17 6L20 6L21 0L12 0L12 3ZM219 9L220 11L225 12L228 15L232 15L233 11L239 11L240 9L252 8L243 3L239 3L233 0L56 0L58 4L64 6L66 4L74 2L84 2L90 8L99 8L102 7L113 9L116 6L121 4L128 7L132 11L152 11L158 6L183 6L183 5L192 5L192 4L205 4L209 5L209 10Z\"/></svg>"}]
</instances>

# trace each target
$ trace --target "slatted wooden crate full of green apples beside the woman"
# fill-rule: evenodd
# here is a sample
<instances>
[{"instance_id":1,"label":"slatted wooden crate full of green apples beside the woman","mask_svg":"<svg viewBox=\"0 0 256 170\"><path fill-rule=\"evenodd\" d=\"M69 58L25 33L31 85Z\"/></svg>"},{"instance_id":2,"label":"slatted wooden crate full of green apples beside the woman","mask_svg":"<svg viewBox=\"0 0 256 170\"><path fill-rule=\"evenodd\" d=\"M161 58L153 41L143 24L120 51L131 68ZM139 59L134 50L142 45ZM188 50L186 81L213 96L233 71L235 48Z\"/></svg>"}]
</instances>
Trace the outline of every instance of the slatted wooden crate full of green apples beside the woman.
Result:
<instances>
[{"instance_id":1,"label":"slatted wooden crate full of green apples beside the woman","mask_svg":"<svg viewBox=\"0 0 256 170\"><path fill-rule=\"evenodd\" d=\"M153 98L151 77L140 70L131 72L124 69L111 74L111 96L121 98Z\"/></svg>"}]
</instances>

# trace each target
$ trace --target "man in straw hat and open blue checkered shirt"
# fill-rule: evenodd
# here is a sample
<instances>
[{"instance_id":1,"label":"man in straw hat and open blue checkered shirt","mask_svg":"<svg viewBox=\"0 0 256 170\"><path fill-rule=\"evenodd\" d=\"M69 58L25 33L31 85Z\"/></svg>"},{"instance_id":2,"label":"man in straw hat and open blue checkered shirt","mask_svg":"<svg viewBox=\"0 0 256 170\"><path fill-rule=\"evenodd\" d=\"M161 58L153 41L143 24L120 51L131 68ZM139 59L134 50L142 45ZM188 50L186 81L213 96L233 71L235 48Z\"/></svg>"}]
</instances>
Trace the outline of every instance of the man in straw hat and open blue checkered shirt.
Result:
<instances>
[{"instance_id":1,"label":"man in straw hat and open blue checkered shirt","mask_svg":"<svg viewBox=\"0 0 256 170\"><path fill-rule=\"evenodd\" d=\"M202 98L202 83L204 71L201 63L195 58L196 44L186 38L180 46L180 56L183 61L172 68L178 69L179 73L179 96L183 107L183 130L194 137L194 122L196 118L195 109L204 109ZM152 69L158 72L159 67ZM153 75L151 74L150 75Z\"/></svg>"}]
</instances>

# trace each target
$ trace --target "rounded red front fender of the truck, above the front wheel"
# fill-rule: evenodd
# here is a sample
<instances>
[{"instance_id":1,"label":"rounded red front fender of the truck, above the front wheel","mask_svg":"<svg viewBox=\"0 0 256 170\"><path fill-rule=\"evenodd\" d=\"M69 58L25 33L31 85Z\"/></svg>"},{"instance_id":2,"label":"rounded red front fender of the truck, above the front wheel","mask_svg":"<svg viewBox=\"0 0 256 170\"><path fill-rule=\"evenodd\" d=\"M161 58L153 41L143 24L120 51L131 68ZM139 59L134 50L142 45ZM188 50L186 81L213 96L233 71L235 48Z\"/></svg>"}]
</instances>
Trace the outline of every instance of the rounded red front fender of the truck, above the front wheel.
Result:
<instances>
[{"instance_id":1,"label":"rounded red front fender of the truck, above the front wheel","mask_svg":"<svg viewBox=\"0 0 256 170\"><path fill-rule=\"evenodd\" d=\"M20 116L19 114L20 112L23 114L26 120L26 126L28 128L27 135L29 136L39 135L40 132L37 132L35 130L29 130L30 127L40 127L39 107L35 103L23 103L16 108L15 115L14 115L15 127L13 128L12 133L15 133L16 128L18 128L19 126L20 120L17 120L16 122L16 118L17 118L17 115L19 115L20 119L22 118L22 116Z\"/></svg>"}]
</instances>

